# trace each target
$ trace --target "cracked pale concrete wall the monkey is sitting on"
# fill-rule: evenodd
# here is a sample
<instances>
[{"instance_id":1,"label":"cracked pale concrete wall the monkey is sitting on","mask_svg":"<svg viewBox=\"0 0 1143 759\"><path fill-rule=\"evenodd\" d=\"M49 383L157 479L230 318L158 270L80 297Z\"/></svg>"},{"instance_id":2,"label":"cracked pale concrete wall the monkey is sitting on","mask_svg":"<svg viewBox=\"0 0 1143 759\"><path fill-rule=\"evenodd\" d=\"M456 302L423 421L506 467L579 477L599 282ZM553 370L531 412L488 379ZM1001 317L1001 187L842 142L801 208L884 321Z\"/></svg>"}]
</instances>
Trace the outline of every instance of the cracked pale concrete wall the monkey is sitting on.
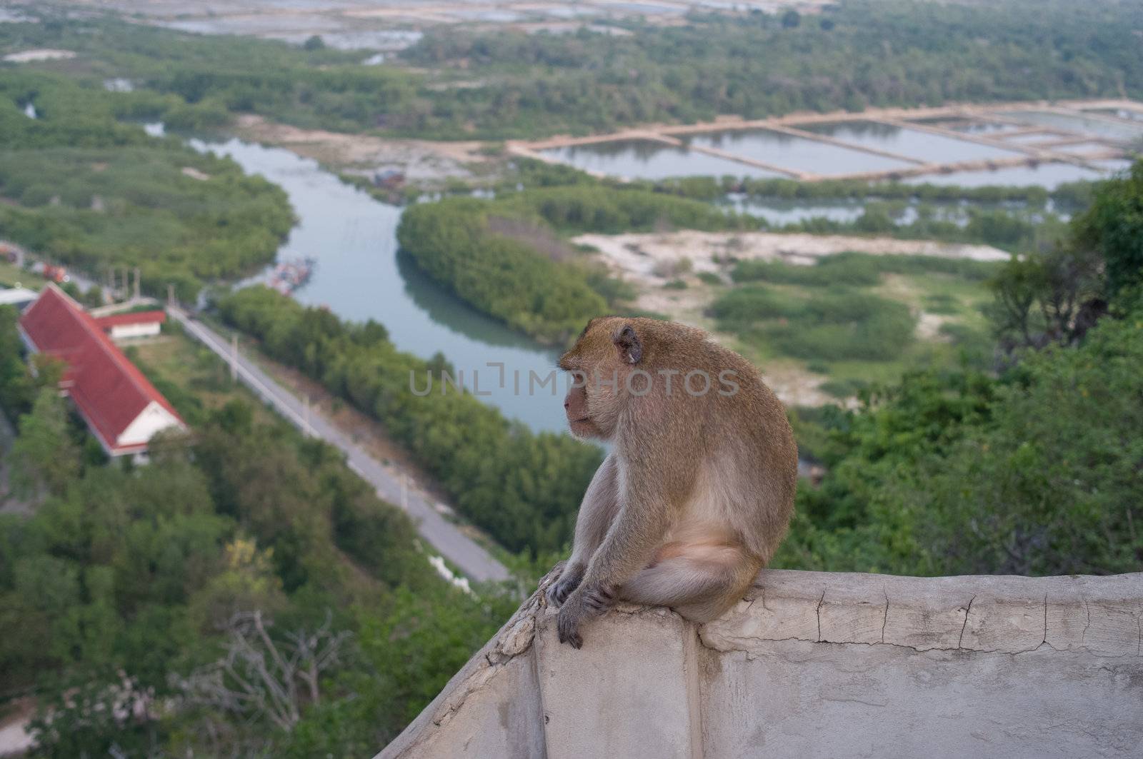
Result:
<instances>
[{"instance_id":1,"label":"cracked pale concrete wall the monkey is sitting on","mask_svg":"<svg viewBox=\"0 0 1143 759\"><path fill-rule=\"evenodd\" d=\"M551 577L541 583L541 591ZM533 596L378 759L1143 757L1143 574L764 572L722 618Z\"/></svg>"}]
</instances>

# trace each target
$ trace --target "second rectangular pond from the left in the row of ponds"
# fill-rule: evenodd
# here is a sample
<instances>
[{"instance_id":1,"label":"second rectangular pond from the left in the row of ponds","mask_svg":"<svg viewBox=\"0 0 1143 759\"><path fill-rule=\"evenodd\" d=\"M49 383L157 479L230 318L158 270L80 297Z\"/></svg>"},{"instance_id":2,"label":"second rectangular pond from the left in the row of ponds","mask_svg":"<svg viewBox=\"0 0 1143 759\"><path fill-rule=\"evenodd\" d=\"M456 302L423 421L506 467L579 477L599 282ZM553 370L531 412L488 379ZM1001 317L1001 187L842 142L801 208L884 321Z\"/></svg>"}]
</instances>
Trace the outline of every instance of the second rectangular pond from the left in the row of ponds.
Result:
<instances>
[{"instance_id":1,"label":"second rectangular pond from the left in the row of ponds","mask_svg":"<svg viewBox=\"0 0 1143 759\"><path fill-rule=\"evenodd\" d=\"M684 139L688 139L684 137ZM769 129L726 129L689 136L689 144L716 147L753 158L780 168L825 176L862 171L892 171L913 166L884 155L848 150L816 139Z\"/></svg>"}]
</instances>

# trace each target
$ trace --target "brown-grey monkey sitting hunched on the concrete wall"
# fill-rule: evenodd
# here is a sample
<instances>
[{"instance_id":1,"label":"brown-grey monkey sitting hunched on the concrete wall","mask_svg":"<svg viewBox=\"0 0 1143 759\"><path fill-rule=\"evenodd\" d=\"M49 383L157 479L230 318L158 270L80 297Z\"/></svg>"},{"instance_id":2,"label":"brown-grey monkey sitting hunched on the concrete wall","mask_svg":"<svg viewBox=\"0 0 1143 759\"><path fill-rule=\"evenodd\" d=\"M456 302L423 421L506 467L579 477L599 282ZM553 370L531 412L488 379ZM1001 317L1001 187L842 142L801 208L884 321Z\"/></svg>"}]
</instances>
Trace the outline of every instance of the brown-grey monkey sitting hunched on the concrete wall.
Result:
<instances>
[{"instance_id":1,"label":"brown-grey monkey sitting hunched on the concrete wall","mask_svg":"<svg viewBox=\"0 0 1143 759\"><path fill-rule=\"evenodd\" d=\"M559 359L572 433L610 442L547 600L560 642L616 601L709 622L742 599L793 514L798 447L782 402L702 329L599 317Z\"/></svg>"}]
</instances>

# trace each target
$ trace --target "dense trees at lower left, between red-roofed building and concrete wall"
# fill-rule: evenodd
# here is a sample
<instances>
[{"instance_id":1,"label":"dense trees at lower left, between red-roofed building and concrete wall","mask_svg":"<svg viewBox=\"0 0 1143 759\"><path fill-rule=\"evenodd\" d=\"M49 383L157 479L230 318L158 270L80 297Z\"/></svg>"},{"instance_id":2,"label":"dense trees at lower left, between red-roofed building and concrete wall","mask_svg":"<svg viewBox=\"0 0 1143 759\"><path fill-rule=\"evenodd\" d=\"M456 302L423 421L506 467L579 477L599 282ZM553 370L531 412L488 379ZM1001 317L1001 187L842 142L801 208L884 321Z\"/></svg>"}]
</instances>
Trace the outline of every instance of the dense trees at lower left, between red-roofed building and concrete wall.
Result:
<instances>
[{"instance_id":1,"label":"dense trees at lower left, between red-roofed building and concrete wall","mask_svg":"<svg viewBox=\"0 0 1143 759\"><path fill-rule=\"evenodd\" d=\"M438 577L403 512L177 333L136 360L193 436L107 462L58 375L23 368L15 317L0 309L19 414L0 505L31 516L0 510L0 697L37 697L35 756L369 756L514 607ZM301 670L262 674L275 653Z\"/></svg>"}]
</instances>

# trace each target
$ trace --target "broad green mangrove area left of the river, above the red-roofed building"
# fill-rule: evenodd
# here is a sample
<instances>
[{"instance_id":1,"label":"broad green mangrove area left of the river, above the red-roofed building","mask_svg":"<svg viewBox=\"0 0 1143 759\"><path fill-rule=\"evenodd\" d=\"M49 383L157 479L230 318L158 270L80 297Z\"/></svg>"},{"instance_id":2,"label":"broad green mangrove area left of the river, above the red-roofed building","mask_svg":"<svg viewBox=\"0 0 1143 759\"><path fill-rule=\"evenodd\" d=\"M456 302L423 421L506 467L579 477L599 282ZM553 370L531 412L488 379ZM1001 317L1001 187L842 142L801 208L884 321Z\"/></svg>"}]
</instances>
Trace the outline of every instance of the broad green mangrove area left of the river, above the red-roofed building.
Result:
<instances>
[{"instance_id":1,"label":"broad green mangrove area left of the river, above the red-roofed building","mask_svg":"<svg viewBox=\"0 0 1143 759\"><path fill-rule=\"evenodd\" d=\"M0 70L0 237L94 278L138 266L147 291L175 285L187 299L272 261L293 225L286 194L231 160L120 123L114 99L66 77Z\"/></svg>"}]
</instances>

